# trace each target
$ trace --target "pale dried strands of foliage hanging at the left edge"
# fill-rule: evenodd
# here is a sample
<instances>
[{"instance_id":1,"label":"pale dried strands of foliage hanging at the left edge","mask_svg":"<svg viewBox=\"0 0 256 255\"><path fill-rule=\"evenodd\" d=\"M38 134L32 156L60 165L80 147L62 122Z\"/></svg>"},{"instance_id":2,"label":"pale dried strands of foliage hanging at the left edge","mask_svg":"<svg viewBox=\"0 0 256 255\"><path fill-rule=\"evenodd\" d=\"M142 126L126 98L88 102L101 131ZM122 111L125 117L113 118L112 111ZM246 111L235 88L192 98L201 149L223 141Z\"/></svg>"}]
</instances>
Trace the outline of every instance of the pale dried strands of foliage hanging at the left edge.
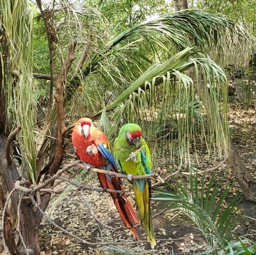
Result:
<instances>
[{"instance_id":1,"label":"pale dried strands of foliage hanging at the left edge","mask_svg":"<svg viewBox=\"0 0 256 255\"><path fill-rule=\"evenodd\" d=\"M0 1L1 29L6 42L2 43L1 61L8 52L9 58L1 70L5 82L3 84L6 97L6 115L8 127L21 126L18 135L22 169L25 176L35 182L35 100L33 98L32 59L33 59L33 12L27 1ZM13 73L17 77L13 79ZM13 100L14 95L14 100Z\"/></svg>"}]
</instances>

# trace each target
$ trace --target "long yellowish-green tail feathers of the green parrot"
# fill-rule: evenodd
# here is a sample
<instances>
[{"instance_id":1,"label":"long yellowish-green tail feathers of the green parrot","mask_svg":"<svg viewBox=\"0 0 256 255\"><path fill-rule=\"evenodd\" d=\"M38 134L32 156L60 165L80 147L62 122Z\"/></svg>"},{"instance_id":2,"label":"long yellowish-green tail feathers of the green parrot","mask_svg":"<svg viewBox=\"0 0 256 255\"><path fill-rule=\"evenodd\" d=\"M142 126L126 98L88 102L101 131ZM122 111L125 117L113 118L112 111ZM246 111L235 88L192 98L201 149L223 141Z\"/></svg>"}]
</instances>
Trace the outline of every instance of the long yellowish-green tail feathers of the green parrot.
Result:
<instances>
[{"instance_id":1,"label":"long yellowish-green tail feathers of the green parrot","mask_svg":"<svg viewBox=\"0 0 256 255\"><path fill-rule=\"evenodd\" d=\"M156 245L156 238L154 234L154 227L152 224L151 210L150 210L150 185L149 181L145 181L143 191L140 190L136 182L133 182L136 206L138 209L140 222L143 224L147 242L150 242L151 248L154 249Z\"/></svg>"}]
</instances>

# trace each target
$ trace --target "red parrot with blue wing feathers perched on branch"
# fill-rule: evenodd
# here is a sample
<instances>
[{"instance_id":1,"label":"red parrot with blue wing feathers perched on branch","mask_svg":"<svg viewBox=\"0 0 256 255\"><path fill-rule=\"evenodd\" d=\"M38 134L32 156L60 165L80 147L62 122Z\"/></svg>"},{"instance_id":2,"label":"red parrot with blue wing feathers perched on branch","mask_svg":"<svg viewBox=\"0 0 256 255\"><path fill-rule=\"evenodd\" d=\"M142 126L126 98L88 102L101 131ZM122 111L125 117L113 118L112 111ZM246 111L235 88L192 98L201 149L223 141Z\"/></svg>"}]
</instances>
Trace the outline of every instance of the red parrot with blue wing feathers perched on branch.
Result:
<instances>
[{"instance_id":1,"label":"red parrot with blue wing feathers perched on branch","mask_svg":"<svg viewBox=\"0 0 256 255\"><path fill-rule=\"evenodd\" d=\"M81 161L99 169L117 172L106 135L93 125L89 118L77 121L72 132L72 144ZM120 179L116 176L97 173L103 189L123 190ZM140 241L134 226L140 224L134 209L125 194L110 193L126 228L130 228L133 235Z\"/></svg>"}]
</instances>

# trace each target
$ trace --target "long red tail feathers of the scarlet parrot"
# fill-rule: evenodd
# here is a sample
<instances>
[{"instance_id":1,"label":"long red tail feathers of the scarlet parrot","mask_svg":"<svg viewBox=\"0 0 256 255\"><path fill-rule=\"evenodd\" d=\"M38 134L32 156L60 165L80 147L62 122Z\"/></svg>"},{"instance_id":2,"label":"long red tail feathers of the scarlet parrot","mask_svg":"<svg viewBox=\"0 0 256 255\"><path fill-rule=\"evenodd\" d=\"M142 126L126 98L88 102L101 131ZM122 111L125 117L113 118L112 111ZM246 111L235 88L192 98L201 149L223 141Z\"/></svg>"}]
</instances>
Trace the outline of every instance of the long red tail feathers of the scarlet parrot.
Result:
<instances>
[{"instance_id":1,"label":"long red tail feathers of the scarlet parrot","mask_svg":"<svg viewBox=\"0 0 256 255\"><path fill-rule=\"evenodd\" d=\"M102 174L102 173L97 173L97 174L98 174L100 185L102 186L103 189L123 190L120 180L115 176L114 177L112 176L112 182L111 182L105 174ZM124 222L125 227L129 228L132 231L133 235L137 238L137 240L140 241L140 237L138 236L138 233L134 228L134 226L140 224L140 220L138 219L136 212L132 208L131 203L126 198L126 195L118 194L115 192L110 194L111 194L111 197L113 198L113 201L120 215L120 218L122 222Z\"/></svg>"}]
</instances>

